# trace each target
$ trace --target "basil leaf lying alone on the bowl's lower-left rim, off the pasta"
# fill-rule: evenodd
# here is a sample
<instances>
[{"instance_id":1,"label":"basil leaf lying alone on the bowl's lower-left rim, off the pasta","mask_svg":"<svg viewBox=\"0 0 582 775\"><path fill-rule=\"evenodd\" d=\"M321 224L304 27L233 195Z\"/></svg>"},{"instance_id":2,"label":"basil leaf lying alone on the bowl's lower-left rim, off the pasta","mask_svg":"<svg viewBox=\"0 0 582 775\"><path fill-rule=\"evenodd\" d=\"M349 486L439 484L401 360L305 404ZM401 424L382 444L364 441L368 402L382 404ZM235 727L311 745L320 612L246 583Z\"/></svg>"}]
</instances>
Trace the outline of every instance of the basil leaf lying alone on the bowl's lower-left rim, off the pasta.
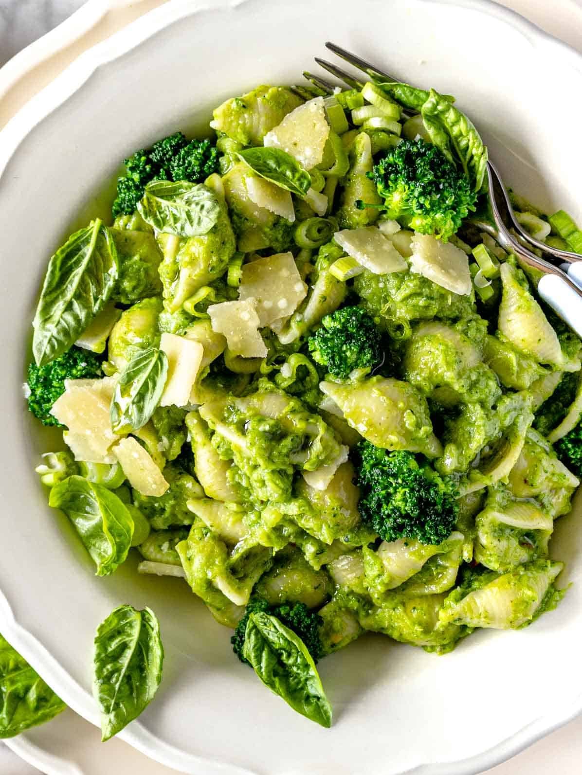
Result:
<instances>
[{"instance_id":1,"label":"basil leaf lying alone on the bowl's lower-left rim, off the pasta","mask_svg":"<svg viewBox=\"0 0 582 775\"><path fill-rule=\"evenodd\" d=\"M93 696L101 708L102 740L137 718L162 680L164 646L150 608L120 605L98 626L93 657Z\"/></svg>"}]
</instances>

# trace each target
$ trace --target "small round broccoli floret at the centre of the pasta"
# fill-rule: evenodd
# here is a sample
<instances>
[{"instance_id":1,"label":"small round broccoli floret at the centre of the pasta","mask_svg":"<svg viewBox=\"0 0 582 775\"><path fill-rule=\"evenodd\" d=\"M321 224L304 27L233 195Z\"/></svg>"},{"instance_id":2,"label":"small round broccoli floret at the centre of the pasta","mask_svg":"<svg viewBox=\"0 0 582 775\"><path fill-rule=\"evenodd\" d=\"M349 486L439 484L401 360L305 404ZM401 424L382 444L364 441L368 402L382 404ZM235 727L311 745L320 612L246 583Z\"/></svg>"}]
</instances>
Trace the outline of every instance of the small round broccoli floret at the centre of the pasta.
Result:
<instances>
[{"instance_id":1,"label":"small round broccoli floret at the centre of the pasta","mask_svg":"<svg viewBox=\"0 0 582 775\"><path fill-rule=\"evenodd\" d=\"M362 307L343 307L325 315L308 346L313 360L342 380L354 369L373 369L384 355L381 332Z\"/></svg>"}]
</instances>

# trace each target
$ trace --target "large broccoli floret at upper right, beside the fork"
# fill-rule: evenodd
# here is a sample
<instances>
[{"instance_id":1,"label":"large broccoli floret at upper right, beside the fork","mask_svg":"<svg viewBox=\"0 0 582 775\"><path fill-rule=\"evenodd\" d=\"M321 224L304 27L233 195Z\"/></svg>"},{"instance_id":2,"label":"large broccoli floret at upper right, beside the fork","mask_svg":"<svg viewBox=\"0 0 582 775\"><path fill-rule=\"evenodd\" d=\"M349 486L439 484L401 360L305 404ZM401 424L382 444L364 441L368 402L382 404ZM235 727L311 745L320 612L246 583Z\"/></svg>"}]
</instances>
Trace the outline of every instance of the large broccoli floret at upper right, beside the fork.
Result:
<instances>
[{"instance_id":1,"label":"large broccoli floret at upper right, beside the fork","mask_svg":"<svg viewBox=\"0 0 582 775\"><path fill-rule=\"evenodd\" d=\"M477 202L469 178L422 138L403 140L389 150L370 177L384 197L388 218L444 240Z\"/></svg>"}]
</instances>

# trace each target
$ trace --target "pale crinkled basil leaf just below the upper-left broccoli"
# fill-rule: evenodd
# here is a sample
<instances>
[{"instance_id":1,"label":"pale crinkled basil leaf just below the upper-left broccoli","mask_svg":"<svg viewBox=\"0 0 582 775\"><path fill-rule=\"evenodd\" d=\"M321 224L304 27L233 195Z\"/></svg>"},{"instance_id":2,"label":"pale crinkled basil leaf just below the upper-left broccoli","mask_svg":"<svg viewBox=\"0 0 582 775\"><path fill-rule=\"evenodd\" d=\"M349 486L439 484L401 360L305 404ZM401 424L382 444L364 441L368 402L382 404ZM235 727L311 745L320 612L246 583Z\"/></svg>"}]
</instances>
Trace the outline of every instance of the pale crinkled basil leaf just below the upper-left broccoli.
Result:
<instances>
[{"instance_id":1,"label":"pale crinkled basil leaf just below the upper-left broccoli","mask_svg":"<svg viewBox=\"0 0 582 775\"><path fill-rule=\"evenodd\" d=\"M186 181L152 181L137 209L144 221L160 232L179 237L207 234L220 215L214 191Z\"/></svg>"}]
</instances>

